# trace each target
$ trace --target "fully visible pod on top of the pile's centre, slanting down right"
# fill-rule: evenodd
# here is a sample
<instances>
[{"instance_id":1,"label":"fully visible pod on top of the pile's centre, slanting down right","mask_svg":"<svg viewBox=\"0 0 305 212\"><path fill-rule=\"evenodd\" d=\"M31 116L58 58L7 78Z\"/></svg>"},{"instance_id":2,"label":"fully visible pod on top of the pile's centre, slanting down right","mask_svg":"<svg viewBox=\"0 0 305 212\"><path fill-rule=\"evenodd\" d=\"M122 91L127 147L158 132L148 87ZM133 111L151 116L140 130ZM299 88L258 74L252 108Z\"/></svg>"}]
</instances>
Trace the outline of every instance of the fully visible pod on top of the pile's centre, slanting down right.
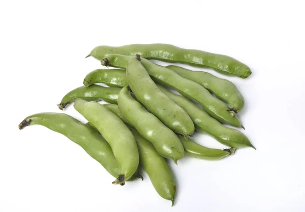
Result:
<instances>
[{"instance_id":1,"label":"fully visible pod on top of the pile's centre, slanting down right","mask_svg":"<svg viewBox=\"0 0 305 212\"><path fill-rule=\"evenodd\" d=\"M159 90L142 66L140 57L130 58L126 78L137 100L169 129L184 136L193 134L195 127L188 113Z\"/></svg>"}]
</instances>

